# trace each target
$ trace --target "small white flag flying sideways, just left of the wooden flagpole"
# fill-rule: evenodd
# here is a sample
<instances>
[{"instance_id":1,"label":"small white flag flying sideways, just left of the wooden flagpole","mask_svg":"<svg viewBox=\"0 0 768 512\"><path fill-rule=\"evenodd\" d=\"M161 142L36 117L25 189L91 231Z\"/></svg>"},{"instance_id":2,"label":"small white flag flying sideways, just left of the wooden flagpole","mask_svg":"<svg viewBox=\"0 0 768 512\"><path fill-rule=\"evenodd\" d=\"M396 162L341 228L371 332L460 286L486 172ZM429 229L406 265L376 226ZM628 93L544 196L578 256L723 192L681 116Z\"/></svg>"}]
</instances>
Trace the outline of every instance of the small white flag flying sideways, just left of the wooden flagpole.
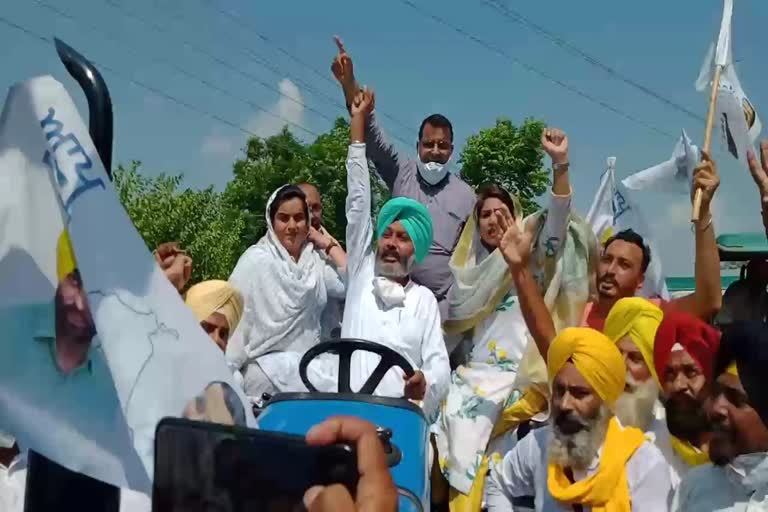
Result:
<instances>
[{"instance_id":1,"label":"small white flag flying sideways, just left of the wooden flagpole","mask_svg":"<svg viewBox=\"0 0 768 512\"><path fill-rule=\"evenodd\" d=\"M624 178L621 183L632 190L690 194L693 171L698 161L699 148L691 143L683 130L669 160L636 172Z\"/></svg>"}]
</instances>

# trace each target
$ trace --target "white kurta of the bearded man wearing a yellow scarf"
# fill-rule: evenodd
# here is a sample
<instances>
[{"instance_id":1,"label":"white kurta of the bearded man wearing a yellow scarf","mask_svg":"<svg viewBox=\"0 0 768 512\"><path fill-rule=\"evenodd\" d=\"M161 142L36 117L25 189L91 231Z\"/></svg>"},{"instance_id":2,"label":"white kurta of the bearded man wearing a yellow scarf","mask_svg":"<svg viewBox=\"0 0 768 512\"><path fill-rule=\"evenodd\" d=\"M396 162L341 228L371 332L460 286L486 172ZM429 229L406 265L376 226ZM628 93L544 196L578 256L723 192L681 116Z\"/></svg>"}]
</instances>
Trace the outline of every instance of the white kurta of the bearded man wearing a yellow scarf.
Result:
<instances>
[{"instance_id":1,"label":"white kurta of the bearded man wearing a yellow scarf","mask_svg":"<svg viewBox=\"0 0 768 512\"><path fill-rule=\"evenodd\" d=\"M488 512L514 510L514 498L534 497L536 512L563 512L547 490L547 446L552 429L536 429L507 452L499 464L491 467L486 481ZM594 474L599 454L587 471L574 471L575 481ZM632 512L669 510L672 487L664 457L651 443L643 443L627 461L627 482ZM584 507L589 512L590 507Z\"/></svg>"}]
</instances>

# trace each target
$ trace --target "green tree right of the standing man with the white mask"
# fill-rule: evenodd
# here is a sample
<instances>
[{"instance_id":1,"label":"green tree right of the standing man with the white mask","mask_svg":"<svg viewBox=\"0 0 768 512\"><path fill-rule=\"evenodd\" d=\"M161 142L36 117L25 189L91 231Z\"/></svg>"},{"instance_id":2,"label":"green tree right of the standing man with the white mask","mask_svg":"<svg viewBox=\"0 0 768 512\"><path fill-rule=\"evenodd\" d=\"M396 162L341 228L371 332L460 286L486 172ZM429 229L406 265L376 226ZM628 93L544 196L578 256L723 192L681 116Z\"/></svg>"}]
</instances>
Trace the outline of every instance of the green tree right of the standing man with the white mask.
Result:
<instances>
[{"instance_id":1,"label":"green tree right of the standing man with the white mask","mask_svg":"<svg viewBox=\"0 0 768 512\"><path fill-rule=\"evenodd\" d=\"M549 183L541 148L544 126L535 119L526 119L519 127L497 119L494 127L471 135L459 159L462 178L473 187L501 185L518 196L526 215L533 213L539 208L535 198Z\"/></svg>"}]
</instances>

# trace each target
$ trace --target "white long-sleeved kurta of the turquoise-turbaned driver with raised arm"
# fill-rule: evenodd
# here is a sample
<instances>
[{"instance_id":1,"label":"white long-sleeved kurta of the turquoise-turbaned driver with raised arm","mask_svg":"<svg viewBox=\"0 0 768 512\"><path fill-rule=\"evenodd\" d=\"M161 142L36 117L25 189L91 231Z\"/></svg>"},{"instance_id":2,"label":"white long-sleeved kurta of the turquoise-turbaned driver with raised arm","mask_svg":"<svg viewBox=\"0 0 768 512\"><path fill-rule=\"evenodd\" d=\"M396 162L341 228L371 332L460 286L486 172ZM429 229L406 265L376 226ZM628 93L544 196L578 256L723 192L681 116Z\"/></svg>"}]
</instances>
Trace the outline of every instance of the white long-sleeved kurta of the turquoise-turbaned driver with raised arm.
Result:
<instances>
[{"instance_id":1,"label":"white long-sleeved kurta of the turquoise-turbaned driver with raised arm","mask_svg":"<svg viewBox=\"0 0 768 512\"><path fill-rule=\"evenodd\" d=\"M371 186L365 144L352 144L347 158L347 299L341 335L385 345L424 373L424 412L432 417L448 391L450 364L440 325L437 300L414 282L405 287L402 305L385 306L374 294L376 252L372 245ZM359 389L373 372L379 356L357 353L352 358L351 386ZM393 368L375 394L402 397L403 372Z\"/></svg>"}]
</instances>

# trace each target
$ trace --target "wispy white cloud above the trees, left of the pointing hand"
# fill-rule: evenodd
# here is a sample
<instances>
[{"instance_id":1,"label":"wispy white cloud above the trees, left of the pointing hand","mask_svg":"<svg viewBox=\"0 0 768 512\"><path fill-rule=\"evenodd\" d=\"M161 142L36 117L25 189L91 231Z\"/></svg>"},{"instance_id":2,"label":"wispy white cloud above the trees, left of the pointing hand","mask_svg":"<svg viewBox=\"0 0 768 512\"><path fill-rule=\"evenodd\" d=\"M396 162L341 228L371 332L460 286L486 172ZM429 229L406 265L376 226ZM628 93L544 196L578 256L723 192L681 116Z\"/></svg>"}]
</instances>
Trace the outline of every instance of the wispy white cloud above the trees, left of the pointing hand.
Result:
<instances>
[{"instance_id":1,"label":"wispy white cloud above the trees, left of the pointing hand","mask_svg":"<svg viewBox=\"0 0 768 512\"><path fill-rule=\"evenodd\" d=\"M269 137L275 135L288 125L292 131L296 127L291 123L302 125L304 122L304 98L299 88L287 78L280 80L277 84L280 90L280 96L277 101L266 109L254 112L243 127L259 137ZM229 157L235 158L238 151L245 145L245 135L224 136L218 127L203 138L200 151L203 156L211 158Z\"/></svg>"}]
</instances>

